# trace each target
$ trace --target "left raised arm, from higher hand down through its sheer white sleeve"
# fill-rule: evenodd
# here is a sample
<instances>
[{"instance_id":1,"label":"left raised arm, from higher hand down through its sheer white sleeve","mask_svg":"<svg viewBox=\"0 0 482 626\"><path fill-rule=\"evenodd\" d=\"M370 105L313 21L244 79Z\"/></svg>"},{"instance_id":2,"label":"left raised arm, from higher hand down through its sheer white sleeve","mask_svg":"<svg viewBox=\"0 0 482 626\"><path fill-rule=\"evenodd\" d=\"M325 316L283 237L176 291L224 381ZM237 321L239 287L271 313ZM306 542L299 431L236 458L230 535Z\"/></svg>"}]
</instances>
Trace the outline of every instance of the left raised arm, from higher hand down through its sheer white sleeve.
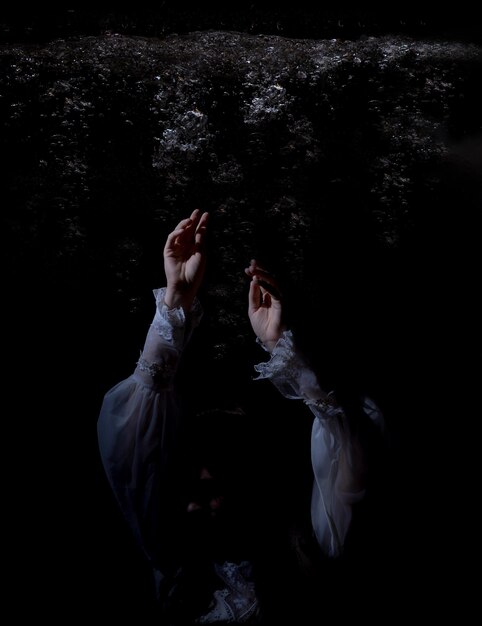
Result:
<instances>
[{"instance_id":1,"label":"left raised arm, from higher hand down through its sheer white sleeve","mask_svg":"<svg viewBox=\"0 0 482 626\"><path fill-rule=\"evenodd\" d=\"M167 287L154 292L156 313L132 376L104 397L98 440L110 486L149 559L169 507L169 472L179 407L172 388L182 351L201 318L195 296L205 268L207 214L194 211L164 248Z\"/></svg>"}]
</instances>

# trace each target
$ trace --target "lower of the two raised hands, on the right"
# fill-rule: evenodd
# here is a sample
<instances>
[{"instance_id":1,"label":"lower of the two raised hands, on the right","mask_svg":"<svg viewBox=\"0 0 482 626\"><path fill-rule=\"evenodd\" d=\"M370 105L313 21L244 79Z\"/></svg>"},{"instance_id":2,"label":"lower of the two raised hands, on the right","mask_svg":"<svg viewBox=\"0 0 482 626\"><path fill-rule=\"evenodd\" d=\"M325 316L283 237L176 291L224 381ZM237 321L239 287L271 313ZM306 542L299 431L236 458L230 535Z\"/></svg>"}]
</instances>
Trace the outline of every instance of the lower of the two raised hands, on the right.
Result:
<instances>
[{"instance_id":1,"label":"lower of the two raised hands, on the right","mask_svg":"<svg viewBox=\"0 0 482 626\"><path fill-rule=\"evenodd\" d=\"M274 278L255 259L245 270L251 276L248 317L256 336L270 352L285 330L283 307Z\"/></svg>"}]
</instances>

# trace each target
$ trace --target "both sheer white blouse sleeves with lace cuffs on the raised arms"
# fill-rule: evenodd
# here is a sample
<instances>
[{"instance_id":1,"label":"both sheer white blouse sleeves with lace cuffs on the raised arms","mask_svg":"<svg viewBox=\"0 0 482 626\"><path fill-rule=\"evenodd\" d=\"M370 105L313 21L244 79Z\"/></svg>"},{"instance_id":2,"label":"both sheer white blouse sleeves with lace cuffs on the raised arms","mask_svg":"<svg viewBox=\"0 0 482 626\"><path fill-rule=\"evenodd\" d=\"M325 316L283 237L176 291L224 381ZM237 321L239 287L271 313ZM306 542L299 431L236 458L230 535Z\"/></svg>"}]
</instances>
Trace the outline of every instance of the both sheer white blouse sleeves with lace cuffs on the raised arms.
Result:
<instances>
[{"instance_id":1,"label":"both sheer white blouse sleeves with lace cuffs on the raised arms","mask_svg":"<svg viewBox=\"0 0 482 626\"><path fill-rule=\"evenodd\" d=\"M162 497L180 420L172 381L182 350L202 316L197 300L185 315L182 308L168 309L164 294L165 289L154 291L156 314L136 370L106 393L98 420L105 472L138 544L150 559L159 521L153 519L153 511L158 510L153 500ZM270 379L286 398L303 400L315 416L311 518L322 551L337 556L350 526L352 504L364 495L359 485L360 450L343 409L319 387L290 331L283 333L269 361L255 369L258 379ZM373 420L380 419L371 401L366 401L365 409Z\"/></svg>"}]
</instances>

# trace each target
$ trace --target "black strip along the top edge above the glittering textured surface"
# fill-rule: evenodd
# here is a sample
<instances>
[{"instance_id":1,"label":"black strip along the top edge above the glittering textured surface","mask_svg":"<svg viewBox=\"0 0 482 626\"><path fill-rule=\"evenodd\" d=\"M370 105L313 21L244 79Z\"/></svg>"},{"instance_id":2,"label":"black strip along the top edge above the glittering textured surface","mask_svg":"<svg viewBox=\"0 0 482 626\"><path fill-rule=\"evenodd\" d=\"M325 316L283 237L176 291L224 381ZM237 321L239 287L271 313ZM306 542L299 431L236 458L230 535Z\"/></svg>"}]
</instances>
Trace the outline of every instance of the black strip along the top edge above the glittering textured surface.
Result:
<instances>
[{"instance_id":1,"label":"black strip along the top edge above the glittering textured surface","mask_svg":"<svg viewBox=\"0 0 482 626\"><path fill-rule=\"evenodd\" d=\"M42 41L106 30L141 36L163 36L194 30L236 30L286 37L357 38L404 34L418 38L480 42L480 17L472 2L172 2L155 7L119 7L69 3L66 7L23 6L2 9L4 41Z\"/></svg>"}]
</instances>

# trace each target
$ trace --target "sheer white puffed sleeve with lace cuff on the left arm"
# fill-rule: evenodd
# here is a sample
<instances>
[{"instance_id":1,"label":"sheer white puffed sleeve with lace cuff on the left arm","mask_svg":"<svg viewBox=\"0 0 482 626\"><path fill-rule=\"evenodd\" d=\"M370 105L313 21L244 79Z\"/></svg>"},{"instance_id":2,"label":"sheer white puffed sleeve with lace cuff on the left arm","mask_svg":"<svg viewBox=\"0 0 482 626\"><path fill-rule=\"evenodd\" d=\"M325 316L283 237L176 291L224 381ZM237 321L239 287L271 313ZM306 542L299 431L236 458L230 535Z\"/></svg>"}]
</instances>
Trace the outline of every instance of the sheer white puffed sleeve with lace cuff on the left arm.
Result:
<instances>
[{"instance_id":1,"label":"sheer white puffed sleeve with lace cuff on the left arm","mask_svg":"<svg viewBox=\"0 0 482 626\"><path fill-rule=\"evenodd\" d=\"M134 373L104 397L97 432L105 472L137 542L152 559L158 545L159 503L179 422L172 381L202 311L168 309L165 289L154 291L156 314ZM164 493L163 493L164 491Z\"/></svg>"}]
</instances>

